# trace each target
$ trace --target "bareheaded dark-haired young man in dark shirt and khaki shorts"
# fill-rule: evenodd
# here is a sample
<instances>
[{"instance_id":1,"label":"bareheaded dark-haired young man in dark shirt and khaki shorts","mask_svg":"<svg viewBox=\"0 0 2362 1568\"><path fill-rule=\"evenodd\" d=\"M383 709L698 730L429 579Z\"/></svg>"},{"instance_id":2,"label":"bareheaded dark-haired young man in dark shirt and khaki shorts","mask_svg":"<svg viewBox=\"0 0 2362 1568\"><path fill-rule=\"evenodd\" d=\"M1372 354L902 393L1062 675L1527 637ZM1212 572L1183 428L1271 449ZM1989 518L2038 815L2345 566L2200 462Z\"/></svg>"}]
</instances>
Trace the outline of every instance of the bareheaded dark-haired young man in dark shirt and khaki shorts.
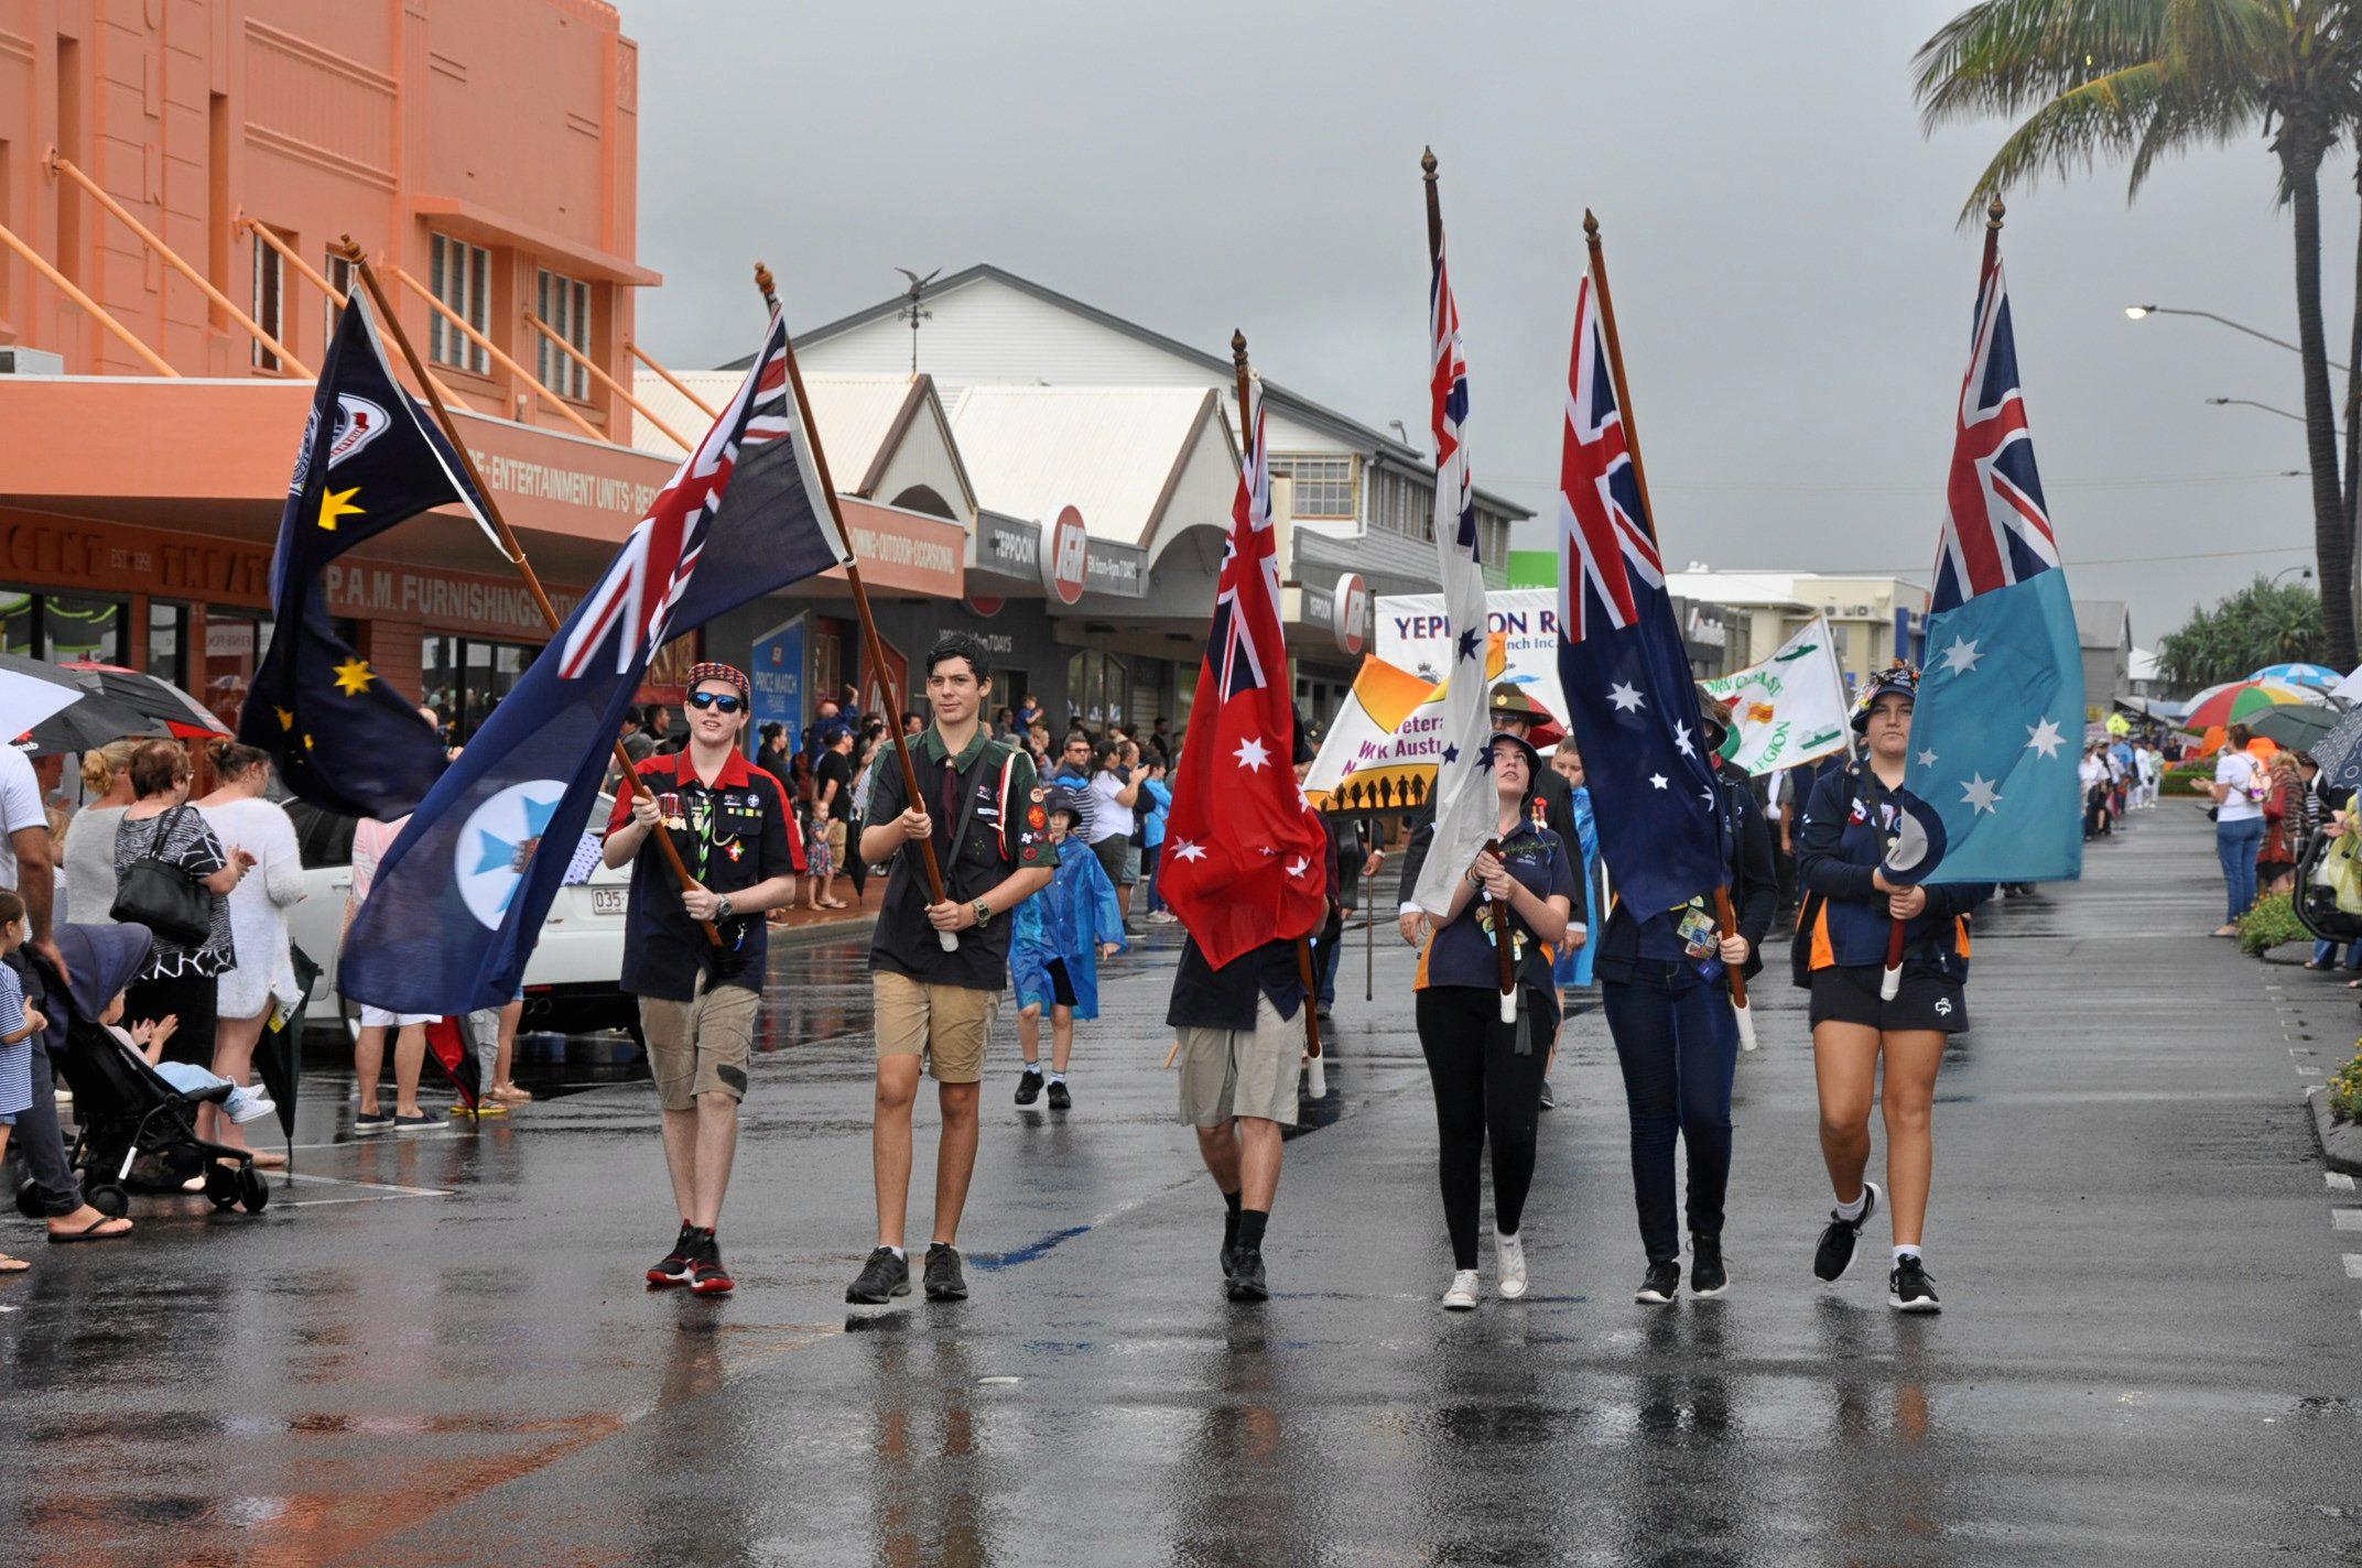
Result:
<instances>
[{"instance_id":1,"label":"bareheaded dark-haired young man in dark shirt and khaki shorts","mask_svg":"<svg viewBox=\"0 0 2362 1568\"><path fill-rule=\"evenodd\" d=\"M1044 838L1049 791L1035 784L1032 758L983 730L992 692L985 645L945 633L926 652L926 699L935 713L912 744L919 798L902 765L881 758L869 784L869 827L860 852L893 862L869 985L876 999L879 1086L872 1126L879 1244L846 1289L846 1301L881 1306L909 1294L902 1223L909 1209L909 1112L919 1098L919 1060L935 1074L942 1141L935 1150L935 1237L926 1249L926 1299L964 1301L959 1214L976 1171L976 1103L985 1077L985 1037L1009 989L1009 914L1044 888L1058 850ZM919 864L933 841L945 897L935 902ZM942 935L952 935L952 947Z\"/></svg>"}]
</instances>

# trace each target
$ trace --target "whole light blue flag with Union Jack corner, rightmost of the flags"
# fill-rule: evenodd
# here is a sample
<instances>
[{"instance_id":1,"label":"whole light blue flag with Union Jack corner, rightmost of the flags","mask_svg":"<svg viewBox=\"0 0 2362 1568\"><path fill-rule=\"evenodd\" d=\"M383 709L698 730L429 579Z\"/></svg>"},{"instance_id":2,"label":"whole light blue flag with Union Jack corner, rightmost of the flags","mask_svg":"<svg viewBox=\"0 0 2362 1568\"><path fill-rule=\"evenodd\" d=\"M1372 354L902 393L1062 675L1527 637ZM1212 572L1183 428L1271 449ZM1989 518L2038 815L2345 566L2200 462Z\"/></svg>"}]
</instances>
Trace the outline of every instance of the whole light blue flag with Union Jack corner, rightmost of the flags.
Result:
<instances>
[{"instance_id":1,"label":"whole light blue flag with Union Jack corner, rightmost of the flags","mask_svg":"<svg viewBox=\"0 0 2362 1568\"><path fill-rule=\"evenodd\" d=\"M1927 668L1904 786L1944 817L1939 883L2083 871L2083 652L2017 385L2001 246L1984 255L1953 416Z\"/></svg>"}]
</instances>

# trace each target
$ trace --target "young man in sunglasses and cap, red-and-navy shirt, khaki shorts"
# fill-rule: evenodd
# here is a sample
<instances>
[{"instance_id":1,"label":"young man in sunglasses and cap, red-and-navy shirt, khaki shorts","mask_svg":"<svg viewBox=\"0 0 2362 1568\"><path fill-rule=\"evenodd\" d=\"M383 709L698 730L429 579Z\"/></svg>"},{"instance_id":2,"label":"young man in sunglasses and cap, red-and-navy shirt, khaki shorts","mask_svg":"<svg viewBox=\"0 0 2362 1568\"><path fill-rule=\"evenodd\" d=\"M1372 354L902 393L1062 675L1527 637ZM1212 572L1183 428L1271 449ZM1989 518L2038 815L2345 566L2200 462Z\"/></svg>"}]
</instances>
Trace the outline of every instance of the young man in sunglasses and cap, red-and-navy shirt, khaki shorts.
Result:
<instances>
[{"instance_id":1,"label":"young man in sunglasses and cap, red-and-navy shirt, khaki shorts","mask_svg":"<svg viewBox=\"0 0 2362 1568\"><path fill-rule=\"evenodd\" d=\"M640 999L640 1034L664 1105L664 1164L680 1207L680 1235L647 1282L687 1285L702 1296L732 1289L713 1233L763 999L763 912L789 902L803 871L787 786L739 751L746 699L737 668L690 671L690 739L640 763L650 793L616 796L605 848L609 867L631 864L624 989ZM652 843L659 827L690 869L685 893ZM704 923L720 933L718 947Z\"/></svg>"}]
</instances>

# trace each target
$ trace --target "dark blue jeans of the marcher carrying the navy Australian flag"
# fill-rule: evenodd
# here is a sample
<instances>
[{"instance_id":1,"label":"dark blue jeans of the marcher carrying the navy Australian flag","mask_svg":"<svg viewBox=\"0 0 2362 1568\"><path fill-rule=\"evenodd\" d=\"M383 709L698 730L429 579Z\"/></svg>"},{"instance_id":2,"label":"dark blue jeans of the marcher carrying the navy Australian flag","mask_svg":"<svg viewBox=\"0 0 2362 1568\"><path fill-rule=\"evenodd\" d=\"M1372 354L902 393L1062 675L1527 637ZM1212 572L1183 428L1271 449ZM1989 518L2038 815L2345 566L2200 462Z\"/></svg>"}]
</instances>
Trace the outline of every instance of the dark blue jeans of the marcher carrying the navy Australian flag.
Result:
<instances>
[{"instance_id":1,"label":"dark blue jeans of the marcher carrying the navy Australian flag","mask_svg":"<svg viewBox=\"0 0 2362 1568\"><path fill-rule=\"evenodd\" d=\"M1722 1235L1731 1181L1731 1074L1738 1018L1720 980L1686 963L1644 959L1632 980L1604 980L1601 1006L1632 1115L1632 1202L1649 1261L1682 1256L1672 1202L1672 1143L1689 1145L1689 1228Z\"/></svg>"}]
</instances>

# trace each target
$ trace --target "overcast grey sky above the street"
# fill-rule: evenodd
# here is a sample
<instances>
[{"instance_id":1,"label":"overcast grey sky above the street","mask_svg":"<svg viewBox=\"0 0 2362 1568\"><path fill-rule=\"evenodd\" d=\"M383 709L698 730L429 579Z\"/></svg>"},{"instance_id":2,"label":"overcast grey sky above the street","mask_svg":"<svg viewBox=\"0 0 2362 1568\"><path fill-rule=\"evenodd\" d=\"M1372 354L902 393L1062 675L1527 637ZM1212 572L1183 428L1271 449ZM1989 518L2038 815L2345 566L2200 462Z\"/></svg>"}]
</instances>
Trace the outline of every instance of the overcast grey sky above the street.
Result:
<instances>
[{"instance_id":1,"label":"overcast grey sky above the street","mask_svg":"<svg viewBox=\"0 0 2362 1568\"><path fill-rule=\"evenodd\" d=\"M1476 482L1554 517L1583 208L1606 234L1665 555L1925 581L2003 125L1920 137L1953 5L621 0L640 40L640 333L744 354L749 264L796 328L997 262L1424 444L1420 146L1469 347ZM2324 172L2338 352L2353 168ZM2310 560L2289 220L2260 139L2012 198L2017 352L2079 597L2142 645ZM924 342L921 342L924 368ZM1542 522L1521 545L1547 543ZM2178 557L2178 560L2168 560Z\"/></svg>"}]
</instances>

